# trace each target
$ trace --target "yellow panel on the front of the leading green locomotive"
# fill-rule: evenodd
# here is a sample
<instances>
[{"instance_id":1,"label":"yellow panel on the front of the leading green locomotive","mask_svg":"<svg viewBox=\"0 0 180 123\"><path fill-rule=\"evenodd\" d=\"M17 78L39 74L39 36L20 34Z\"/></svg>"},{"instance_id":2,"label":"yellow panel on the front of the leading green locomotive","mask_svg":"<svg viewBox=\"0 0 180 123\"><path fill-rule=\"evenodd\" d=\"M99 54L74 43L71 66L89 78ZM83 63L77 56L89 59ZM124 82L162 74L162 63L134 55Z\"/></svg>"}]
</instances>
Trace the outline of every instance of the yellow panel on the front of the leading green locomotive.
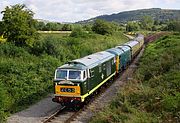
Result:
<instances>
[{"instance_id":1,"label":"yellow panel on the front of the leading green locomotive","mask_svg":"<svg viewBox=\"0 0 180 123\"><path fill-rule=\"evenodd\" d=\"M55 85L55 94L59 96L77 97L80 93L80 86Z\"/></svg>"}]
</instances>

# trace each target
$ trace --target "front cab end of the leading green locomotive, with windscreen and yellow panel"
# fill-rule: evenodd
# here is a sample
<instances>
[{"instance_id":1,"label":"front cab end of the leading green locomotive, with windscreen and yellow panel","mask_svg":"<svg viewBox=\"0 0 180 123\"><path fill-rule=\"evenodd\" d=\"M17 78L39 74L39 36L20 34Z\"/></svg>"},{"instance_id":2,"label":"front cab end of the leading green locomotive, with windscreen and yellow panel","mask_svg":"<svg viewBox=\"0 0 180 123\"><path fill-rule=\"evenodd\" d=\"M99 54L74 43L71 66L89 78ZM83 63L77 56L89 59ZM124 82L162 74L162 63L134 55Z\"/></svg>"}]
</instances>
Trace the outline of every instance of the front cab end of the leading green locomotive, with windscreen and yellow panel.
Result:
<instances>
[{"instance_id":1,"label":"front cab end of the leading green locomotive, with windscreen and yellow panel","mask_svg":"<svg viewBox=\"0 0 180 123\"><path fill-rule=\"evenodd\" d=\"M55 71L54 102L70 105L81 102L83 83L87 81L87 68L82 64L68 63Z\"/></svg>"}]
</instances>

